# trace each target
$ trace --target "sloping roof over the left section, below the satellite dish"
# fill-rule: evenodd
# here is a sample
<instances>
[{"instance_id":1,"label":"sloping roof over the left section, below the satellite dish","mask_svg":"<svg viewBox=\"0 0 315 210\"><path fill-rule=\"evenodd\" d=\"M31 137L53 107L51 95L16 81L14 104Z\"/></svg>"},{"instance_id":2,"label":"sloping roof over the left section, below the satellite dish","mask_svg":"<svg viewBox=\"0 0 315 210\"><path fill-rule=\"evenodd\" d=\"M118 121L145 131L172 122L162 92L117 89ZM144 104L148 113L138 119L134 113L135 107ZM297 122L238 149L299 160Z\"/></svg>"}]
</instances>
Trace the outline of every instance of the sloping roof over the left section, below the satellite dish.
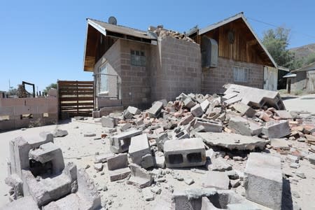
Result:
<instances>
[{"instance_id":1,"label":"sloping roof over the left section, below the satellite dish","mask_svg":"<svg viewBox=\"0 0 315 210\"><path fill-rule=\"evenodd\" d=\"M138 38L148 38L148 39L155 39L153 36L148 34L146 31L141 31L139 29L133 29L130 27L124 27L121 25L112 25L107 22L102 22L99 20L93 20L90 18L87 18L87 24L91 25L95 29L97 29L99 32L104 34L106 36L107 31L119 33L119 34L125 34L129 36L135 36Z\"/></svg>"}]
</instances>

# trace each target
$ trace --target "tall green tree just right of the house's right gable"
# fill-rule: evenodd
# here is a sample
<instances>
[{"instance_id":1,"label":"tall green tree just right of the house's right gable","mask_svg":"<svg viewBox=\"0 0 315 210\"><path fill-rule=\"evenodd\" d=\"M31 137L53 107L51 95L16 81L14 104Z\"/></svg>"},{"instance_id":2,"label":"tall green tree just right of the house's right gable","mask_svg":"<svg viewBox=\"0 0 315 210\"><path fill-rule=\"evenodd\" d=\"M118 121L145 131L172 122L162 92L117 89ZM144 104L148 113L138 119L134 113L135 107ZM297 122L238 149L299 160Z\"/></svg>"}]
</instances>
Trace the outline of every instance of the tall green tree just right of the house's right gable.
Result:
<instances>
[{"instance_id":1,"label":"tall green tree just right of the house's right gable","mask_svg":"<svg viewBox=\"0 0 315 210\"><path fill-rule=\"evenodd\" d=\"M283 27L269 29L264 32L262 43L272 55L276 64L289 69L297 69L302 66L302 62L296 60L294 53L288 50L289 36L290 29Z\"/></svg>"}]
</instances>

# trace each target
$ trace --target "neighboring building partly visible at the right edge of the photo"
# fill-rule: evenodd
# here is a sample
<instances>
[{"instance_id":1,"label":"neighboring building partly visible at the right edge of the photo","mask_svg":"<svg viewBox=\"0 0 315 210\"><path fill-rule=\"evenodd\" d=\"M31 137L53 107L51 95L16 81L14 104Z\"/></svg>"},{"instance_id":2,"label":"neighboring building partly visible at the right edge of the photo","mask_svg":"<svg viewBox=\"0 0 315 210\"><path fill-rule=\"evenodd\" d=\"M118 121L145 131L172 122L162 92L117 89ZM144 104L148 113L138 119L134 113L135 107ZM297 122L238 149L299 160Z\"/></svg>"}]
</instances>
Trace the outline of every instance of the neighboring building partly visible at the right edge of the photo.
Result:
<instances>
[{"instance_id":1,"label":"neighboring building partly visible at the right edge of the photo","mask_svg":"<svg viewBox=\"0 0 315 210\"><path fill-rule=\"evenodd\" d=\"M290 71L283 78L287 78L288 92L315 92L315 62Z\"/></svg>"}]
</instances>

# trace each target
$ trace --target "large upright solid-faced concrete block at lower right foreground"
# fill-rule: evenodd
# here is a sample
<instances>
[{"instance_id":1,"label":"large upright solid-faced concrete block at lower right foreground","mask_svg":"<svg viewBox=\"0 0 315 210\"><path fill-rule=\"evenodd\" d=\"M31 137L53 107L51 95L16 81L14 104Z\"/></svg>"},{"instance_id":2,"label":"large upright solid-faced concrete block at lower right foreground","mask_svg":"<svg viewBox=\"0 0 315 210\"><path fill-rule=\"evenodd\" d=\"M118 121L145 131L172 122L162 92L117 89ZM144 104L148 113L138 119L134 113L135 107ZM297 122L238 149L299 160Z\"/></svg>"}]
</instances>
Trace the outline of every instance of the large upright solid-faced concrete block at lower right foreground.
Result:
<instances>
[{"instance_id":1,"label":"large upright solid-faced concrete block at lower right foreground","mask_svg":"<svg viewBox=\"0 0 315 210\"><path fill-rule=\"evenodd\" d=\"M281 158L250 153L244 175L246 199L271 209L281 209Z\"/></svg>"}]
</instances>

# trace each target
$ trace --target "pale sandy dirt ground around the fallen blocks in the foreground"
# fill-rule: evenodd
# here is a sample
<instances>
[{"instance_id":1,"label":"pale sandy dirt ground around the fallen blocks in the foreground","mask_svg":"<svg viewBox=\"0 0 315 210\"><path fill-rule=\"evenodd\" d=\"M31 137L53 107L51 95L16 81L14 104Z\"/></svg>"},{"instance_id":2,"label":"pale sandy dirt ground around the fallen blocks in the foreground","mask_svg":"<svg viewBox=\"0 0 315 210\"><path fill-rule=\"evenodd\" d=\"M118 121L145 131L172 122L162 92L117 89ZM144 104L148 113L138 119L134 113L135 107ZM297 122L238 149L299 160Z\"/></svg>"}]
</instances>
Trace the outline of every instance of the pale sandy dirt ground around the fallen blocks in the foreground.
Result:
<instances>
[{"instance_id":1,"label":"pale sandy dirt ground around the fallen blocks in the foreground","mask_svg":"<svg viewBox=\"0 0 315 210\"><path fill-rule=\"evenodd\" d=\"M96 172L93 165L95 153L109 153L109 139L98 139L94 140L95 137L84 137L87 132L93 132L100 137L103 131L100 123L94 123L92 118L88 120L73 120L73 122L64 123L62 125L50 125L45 127L34 127L27 130L14 130L10 132L0 133L0 165L2 172L0 173L0 206L8 202L8 187L4 183L4 179L7 176L6 172L6 158L8 158L8 141L18 136L32 135L41 131L52 132L56 129L67 130L69 134L66 137L55 138L55 144L60 146L63 151L65 162L75 162L80 167L86 167L90 177L94 179L99 188L100 195L102 196L102 203L106 203L109 209L169 209L172 197L172 190L185 190L188 188L200 188L202 186L202 180L204 174L193 172L190 168L176 169L175 173L180 174L183 179L192 178L195 183L188 186L184 181L178 181L174 179L171 174L171 169L162 169L162 172L166 172L164 178L165 183L160 183L162 193L155 195L155 200L146 202L142 197L141 190L134 186L127 185L125 180L110 182L107 166L104 165L102 172ZM300 150L307 152L307 146L304 142L290 141L293 148L300 148ZM274 150L267 150L269 153L276 153ZM301 160L299 169L292 169L289 167L288 162L284 161L285 156L282 156L283 173L291 174L290 179L290 192L291 196L286 198L288 209L294 207L301 207L302 209L315 209L315 167L311 165L308 160ZM246 161L235 162L234 160L228 160L233 165L233 169L239 169L244 171L246 167ZM156 170L156 169L155 169ZM200 168L205 172L205 168ZM306 179L301 179L295 175L295 172L303 172ZM104 191L102 188L106 186L108 190ZM239 186L235 188L236 192L240 195L243 194L244 188ZM290 197L292 200L290 200ZM261 209L267 209L261 207Z\"/></svg>"}]
</instances>

